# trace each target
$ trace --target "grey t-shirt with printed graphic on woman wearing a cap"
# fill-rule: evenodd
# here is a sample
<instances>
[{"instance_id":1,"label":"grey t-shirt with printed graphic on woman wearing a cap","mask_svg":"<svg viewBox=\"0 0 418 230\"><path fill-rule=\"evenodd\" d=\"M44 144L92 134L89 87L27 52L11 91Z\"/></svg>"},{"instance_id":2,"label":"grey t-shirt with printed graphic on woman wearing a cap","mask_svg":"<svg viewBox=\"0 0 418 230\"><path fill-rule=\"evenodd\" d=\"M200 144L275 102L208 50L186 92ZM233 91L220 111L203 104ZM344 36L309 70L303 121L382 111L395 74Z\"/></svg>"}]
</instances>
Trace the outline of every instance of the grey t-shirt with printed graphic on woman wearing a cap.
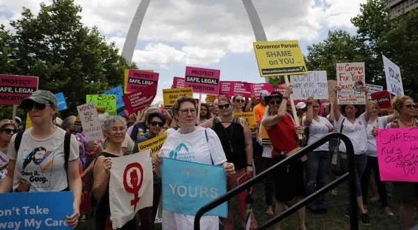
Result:
<instances>
[{"instance_id":1,"label":"grey t-shirt with printed graphic on woman wearing a cap","mask_svg":"<svg viewBox=\"0 0 418 230\"><path fill-rule=\"evenodd\" d=\"M35 139L31 134L32 128L27 129L20 143L19 153L15 151L13 135L8 147L8 158L16 160L13 190L20 181L28 182L29 192L62 191L68 187L67 172L64 163L65 130L56 131L47 139ZM79 158L77 139L71 135L70 157L68 161Z\"/></svg>"}]
</instances>

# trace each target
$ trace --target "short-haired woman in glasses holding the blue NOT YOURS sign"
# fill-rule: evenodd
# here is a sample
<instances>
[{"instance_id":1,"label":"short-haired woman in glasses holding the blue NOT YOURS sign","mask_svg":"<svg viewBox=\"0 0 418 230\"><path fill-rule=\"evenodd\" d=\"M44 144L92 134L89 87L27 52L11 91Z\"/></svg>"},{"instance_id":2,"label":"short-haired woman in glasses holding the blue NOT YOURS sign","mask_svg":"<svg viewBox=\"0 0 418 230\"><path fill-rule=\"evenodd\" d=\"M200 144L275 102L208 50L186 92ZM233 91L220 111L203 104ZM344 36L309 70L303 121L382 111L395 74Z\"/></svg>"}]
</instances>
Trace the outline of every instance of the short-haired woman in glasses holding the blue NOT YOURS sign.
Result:
<instances>
[{"instance_id":1,"label":"short-haired woman in glasses holding the blue NOT YOURS sign","mask_svg":"<svg viewBox=\"0 0 418 230\"><path fill-rule=\"evenodd\" d=\"M162 158L222 165L228 176L235 174L234 165L226 162L222 144L216 133L211 129L196 126L196 101L193 98L181 97L178 98L172 109L180 128L178 130L173 129L170 132L160 149L160 153L153 156L153 164L157 175L161 176ZM187 146L187 148L182 146ZM193 224L194 216L192 215L182 215L163 210L163 230L193 229ZM201 229L218 230L218 217L203 216L201 218Z\"/></svg>"}]
</instances>

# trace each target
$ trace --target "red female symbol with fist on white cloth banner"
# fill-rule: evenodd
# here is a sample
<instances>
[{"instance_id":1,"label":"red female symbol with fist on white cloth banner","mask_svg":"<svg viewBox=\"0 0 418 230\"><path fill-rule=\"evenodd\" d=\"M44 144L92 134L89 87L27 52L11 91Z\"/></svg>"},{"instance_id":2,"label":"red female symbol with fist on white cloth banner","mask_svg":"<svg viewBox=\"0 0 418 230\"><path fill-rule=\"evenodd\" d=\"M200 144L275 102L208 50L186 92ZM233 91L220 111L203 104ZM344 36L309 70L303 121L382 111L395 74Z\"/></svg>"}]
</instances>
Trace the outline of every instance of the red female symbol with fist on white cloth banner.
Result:
<instances>
[{"instance_id":1,"label":"red female symbol with fist on white cloth banner","mask_svg":"<svg viewBox=\"0 0 418 230\"><path fill-rule=\"evenodd\" d=\"M134 168L130 172L130 185L127 183L127 172ZM141 178L138 180L138 171L141 174ZM139 190L141 190L142 181L144 181L144 169L142 169L141 164L134 162L132 164L127 164L125 171L123 171L123 187L125 187L126 192L134 194L134 199L131 200L131 206L134 206L134 210L137 210L137 203L139 201Z\"/></svg>"}]
</instances>

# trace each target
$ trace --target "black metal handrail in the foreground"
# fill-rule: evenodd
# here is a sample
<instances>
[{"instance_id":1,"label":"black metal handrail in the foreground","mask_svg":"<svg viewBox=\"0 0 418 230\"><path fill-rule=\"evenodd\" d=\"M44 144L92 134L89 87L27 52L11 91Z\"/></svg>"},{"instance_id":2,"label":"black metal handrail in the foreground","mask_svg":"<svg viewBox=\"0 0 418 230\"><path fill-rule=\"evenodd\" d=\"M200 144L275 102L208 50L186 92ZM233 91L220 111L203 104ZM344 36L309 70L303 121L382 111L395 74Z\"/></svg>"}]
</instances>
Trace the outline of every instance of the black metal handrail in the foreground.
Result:
<instances>
[{"instance_id":1,"label":"black metal handrail in the foreground","mask_svg":"<svg viewBox=\"0 0 418 230\"><path fill-rule=\"evenodd\" d=\"M229 199L237 196L241 192L247 190L247 188L255 185L258 181L261 181L263 178L265 178L265 176L268 176L268 174L272 174L273 170L276 169L277 167L282 166L288 162L297 160L299 158L302 158L304 155L307 155L307 153L314 151L316 148L318 148L319 146L322 146L327 141L330 141L330 139L333 139L333 138L339 138L341 139L341 141L344 142L344 144L346 144L346 151L347 151L347 158L348 158L348 172L346 174L343 174L343 176L337 178L336 180L332 181L330 184L326 185L325 187L321 188L320 190L314 192L314 194L311 194L309 197L306 197L302 201L297 202L297 204L294 204L290 208L284 210L283 213L280 213L279 215L275 215L274 217L272 217L272 219L268 220L268 222L265 222L264 224L262 224L260 227L257 227L256 229L261 230L261 229L267 229L268 227L271 227L273 224L276 224L277 222L279 222L280 220L283 220L288 215L295 213L299 208L306 206L310 201L316 199L318 196L322 194L325 194L325 192L332 190L332 188L338 186L339 184L343 183L343 181L345 181L347 178L349 178L349 181L350 181L350 191L349 191L350 193L349 194L350 229L358 230L359 222L357 219L357 195L355 192L356 185L355 185L354 148L350 139L346 135L343 135L339 132L332 132L328 135L325 135L325 137L319 139L314 144L301 148L299 151L289 156L288 158L285 158L284 160L281 160L281 162L274 164L272 167L265 169L265 171L263 171L261 174L254 176L254 178L251 178L249 181L246 181L242 185L235 187L233 190L226 192L226 194L223 194L221 197L218 197L217 199L201 207L197 211L194 217L194 230L200 230L200 220L203 214L223 204Z\"/></svg>"}]
</instances>

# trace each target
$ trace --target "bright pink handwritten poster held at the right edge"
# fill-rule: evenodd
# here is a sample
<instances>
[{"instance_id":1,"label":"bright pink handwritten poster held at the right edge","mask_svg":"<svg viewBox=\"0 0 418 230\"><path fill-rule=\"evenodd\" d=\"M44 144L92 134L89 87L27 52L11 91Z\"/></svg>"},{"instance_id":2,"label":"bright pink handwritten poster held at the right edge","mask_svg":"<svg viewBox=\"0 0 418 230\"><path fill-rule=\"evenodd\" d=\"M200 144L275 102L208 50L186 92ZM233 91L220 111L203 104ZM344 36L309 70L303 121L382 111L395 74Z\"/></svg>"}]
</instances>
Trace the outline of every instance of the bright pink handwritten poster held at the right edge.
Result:
<instances>
[{"instance_id":1,"label":"bright pink handwritten poster held at the right edge","mask_svg":"<svg viewBox=\"0 0 418 230\"><path fill-rule=\"evenodd\" d=\"M379 129L376 144L382 181L418 182L418 128Z\"/></svg>"}]
</instances>

